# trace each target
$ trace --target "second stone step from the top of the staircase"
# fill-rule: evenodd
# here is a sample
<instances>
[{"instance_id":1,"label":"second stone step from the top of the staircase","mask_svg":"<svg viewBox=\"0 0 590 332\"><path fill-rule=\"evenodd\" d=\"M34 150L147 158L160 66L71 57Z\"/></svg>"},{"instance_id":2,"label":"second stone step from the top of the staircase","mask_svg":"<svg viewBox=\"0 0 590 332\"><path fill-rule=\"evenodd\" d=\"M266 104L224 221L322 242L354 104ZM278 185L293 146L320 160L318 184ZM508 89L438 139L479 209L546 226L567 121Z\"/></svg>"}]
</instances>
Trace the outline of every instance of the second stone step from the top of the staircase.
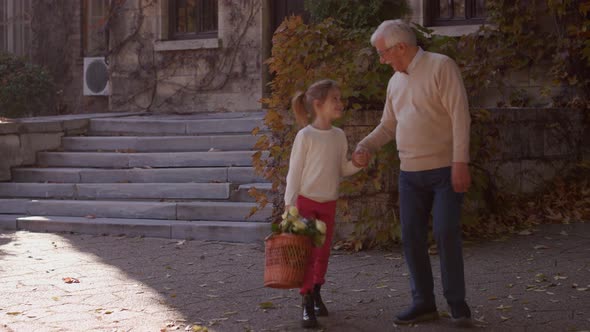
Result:
<instances>
[{"instance_id":1,"label":"second stone step from the top of the staircase","mask_svg":"<svg viewBox=\"0 0 590 332\"><path fill-rule=\"evenodd\" d=\"M65 151L183 152L252 150L258 137L220 136L92 136L62 138Z\"/></svg>"}]
</instances>

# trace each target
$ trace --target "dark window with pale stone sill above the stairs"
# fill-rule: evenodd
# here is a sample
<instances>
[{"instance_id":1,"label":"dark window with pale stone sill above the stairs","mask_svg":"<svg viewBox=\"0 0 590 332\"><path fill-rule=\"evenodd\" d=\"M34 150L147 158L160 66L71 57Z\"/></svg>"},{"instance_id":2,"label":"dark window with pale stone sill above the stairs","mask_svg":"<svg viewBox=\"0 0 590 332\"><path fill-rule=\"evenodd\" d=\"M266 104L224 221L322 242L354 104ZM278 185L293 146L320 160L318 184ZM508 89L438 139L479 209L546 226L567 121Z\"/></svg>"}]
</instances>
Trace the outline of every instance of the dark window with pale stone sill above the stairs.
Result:
<instances>
[{"instance_id":1,"label":"dark window with pale stone sill above the stairs","mask_svg":"<svg viewBox=\"0 0 590 332\"><path fill-rule=\"evenodd\" d=\"M217 0L169 0L170 39L217 37Z\"/></svg>"}]
</instances>

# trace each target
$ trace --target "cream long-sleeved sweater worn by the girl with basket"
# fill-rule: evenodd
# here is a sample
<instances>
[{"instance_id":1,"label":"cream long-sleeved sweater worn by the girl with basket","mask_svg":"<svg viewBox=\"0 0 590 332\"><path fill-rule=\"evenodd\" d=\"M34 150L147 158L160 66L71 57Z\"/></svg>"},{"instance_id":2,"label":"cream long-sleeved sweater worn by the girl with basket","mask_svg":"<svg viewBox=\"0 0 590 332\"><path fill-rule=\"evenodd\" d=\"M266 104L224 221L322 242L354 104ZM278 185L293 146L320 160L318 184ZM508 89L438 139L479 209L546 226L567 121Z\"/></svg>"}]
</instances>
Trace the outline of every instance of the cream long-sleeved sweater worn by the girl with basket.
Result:
<instances>
[{"instance_id":1,"label":"cream long-sleeved sweater worn by the girl with basket","mask_svg":"<svg viewBox=\"0 0 590 332\"><path fill-rule=\"evenodd\" d=\"M340 178L360 170L348 160L347 151L340 128L320 130L309 125L301 129L289 160L285 204L295 206L299 195L321 203L338 199Z\"/></svg>"}]
</instances>

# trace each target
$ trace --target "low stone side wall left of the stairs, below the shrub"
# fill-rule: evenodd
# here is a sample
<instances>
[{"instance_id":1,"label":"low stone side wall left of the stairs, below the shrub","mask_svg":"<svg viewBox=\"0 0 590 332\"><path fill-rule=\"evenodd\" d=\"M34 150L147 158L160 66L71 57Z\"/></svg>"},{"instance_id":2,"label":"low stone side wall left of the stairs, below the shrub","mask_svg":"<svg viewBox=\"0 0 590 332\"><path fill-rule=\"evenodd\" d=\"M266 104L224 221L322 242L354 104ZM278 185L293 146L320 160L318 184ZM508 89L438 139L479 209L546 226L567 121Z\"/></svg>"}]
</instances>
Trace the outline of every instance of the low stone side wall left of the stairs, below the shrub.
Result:
<instances>
[{"instance_id":1,"label":"low stone side wall left of the stairs, below the shrub","mask_svg":"<svg viewBox=\"0 0 590 332\"><path fill-rule=\"evenodd\" d=\"M11 180L13 167L34 165L37 152L58 149L64 135L86 133L90 119L136 114L80 114L0 122L0 181Z\"/></svg>"}]
</instances>

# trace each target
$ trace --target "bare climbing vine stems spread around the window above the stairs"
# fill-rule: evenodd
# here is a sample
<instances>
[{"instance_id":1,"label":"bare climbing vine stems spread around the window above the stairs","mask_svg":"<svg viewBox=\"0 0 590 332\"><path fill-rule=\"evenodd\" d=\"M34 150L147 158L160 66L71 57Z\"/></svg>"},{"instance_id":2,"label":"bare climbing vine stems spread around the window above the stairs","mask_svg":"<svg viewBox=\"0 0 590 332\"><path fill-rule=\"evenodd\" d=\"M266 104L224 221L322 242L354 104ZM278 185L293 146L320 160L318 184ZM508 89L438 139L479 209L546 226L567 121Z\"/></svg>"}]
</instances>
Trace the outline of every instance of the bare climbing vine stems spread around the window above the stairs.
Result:
<instances>
[{"instance_id":1,"label":"bare climbing vine stems spread around the window above the stairs","mask_svg":"<svg viewBox=\"0 0 590 332\"><path fill-rule=\"evenodd\" d=\"M146 23L146 12L154 11L159 1L112 1L104 20L109 49L106 57L111 72L124 79L121 93L111 98L119 109L163 110L198 105L204 92L223 90L231 79L247 79L247 68L240 60L254 47L246 38L256 24L262 1L220 0L227 9L224 24L232 31L219 49L158 52L154 48L152 26ZM149 22L149 21L148 21ZM133 60L129 60L134 58ZM186 73L193 73L187 77ZM184 79L183 79L184 78Z\"/></svg>"}]
</instances>

